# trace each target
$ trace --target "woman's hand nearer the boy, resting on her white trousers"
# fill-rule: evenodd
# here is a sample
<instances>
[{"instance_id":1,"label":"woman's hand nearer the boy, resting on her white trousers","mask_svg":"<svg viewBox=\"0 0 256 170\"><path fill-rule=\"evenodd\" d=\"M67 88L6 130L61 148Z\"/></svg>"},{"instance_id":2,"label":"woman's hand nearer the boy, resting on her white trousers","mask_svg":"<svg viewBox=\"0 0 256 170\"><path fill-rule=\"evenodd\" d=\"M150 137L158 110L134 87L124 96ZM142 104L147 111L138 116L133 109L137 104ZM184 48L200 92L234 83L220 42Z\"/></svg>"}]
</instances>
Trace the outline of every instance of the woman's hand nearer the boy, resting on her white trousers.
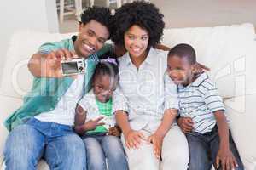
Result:
<instances>
[{"instance_id":1,"label":"woman's hand nearer the boy, resting on her white trousers","mask_svg":"<svg viewBox=\"0 0 256 170\"><path fill-rule=\"evenodd\" d=\"M163 139L164 138L157 133L154 133L148 137L148 143L153 144L154 155L156 156L157 159L160 159Z\"/></svg>"}]
</instances>

